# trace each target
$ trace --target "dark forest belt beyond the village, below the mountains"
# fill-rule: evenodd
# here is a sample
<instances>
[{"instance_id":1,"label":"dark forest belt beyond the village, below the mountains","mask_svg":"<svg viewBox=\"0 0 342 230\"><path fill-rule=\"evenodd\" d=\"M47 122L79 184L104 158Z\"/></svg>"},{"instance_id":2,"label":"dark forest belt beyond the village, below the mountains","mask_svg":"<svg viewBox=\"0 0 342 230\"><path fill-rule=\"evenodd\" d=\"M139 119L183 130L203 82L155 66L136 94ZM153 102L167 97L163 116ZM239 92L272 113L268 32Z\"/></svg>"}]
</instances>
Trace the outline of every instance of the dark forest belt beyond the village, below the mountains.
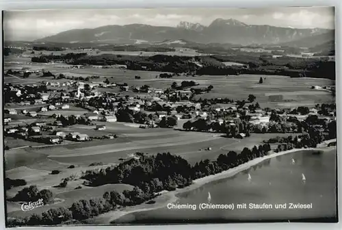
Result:
<instances>
[{"instance_id":1,"label":"dark forest belt beyond the village, below the mountains","mask_svg":"<svg viewBox=\"0 0 342 230\"><path fill-rule=\"evenodd\" d=\"M228 58L228 59L227 59ZM193 59L201 64L195 64ZM68 53L66 55L42 55L32 57L31 62L48 63L51 60L64 60L67 64L74 65L101 65L124 64L130 70L139 71L161 71L170 73L196 73L197 75L240 75L240 74L263 74L263 75L286 75L290 77L317 77L322 76L335 79L335 62L326 60L296 60L293 57L266 58L257 57L257 62L250 63L249 68L244 66L226 66L224 61L233 61L237 57L215 57L215 56L131 56L131 55L87 55L86 53ZM244 55L242 60L250 60ZM253 57L252 60L255 60ZM241 62L244 63L244 62ZM286 66L287 68L267 68L267 66Z\"/></svg>"}]
</instances>

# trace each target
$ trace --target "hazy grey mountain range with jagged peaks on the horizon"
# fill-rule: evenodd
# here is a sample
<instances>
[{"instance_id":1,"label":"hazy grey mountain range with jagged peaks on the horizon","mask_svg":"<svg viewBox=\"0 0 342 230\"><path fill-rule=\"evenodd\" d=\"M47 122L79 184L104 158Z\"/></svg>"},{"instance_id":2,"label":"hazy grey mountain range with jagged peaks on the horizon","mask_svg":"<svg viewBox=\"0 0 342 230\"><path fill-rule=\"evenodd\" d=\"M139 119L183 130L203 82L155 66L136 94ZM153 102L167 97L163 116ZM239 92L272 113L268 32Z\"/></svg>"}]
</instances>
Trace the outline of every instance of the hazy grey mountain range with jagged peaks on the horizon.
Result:
<instances>
[{"instance_id":1,"label":"hazy grey mountain range with jagged peaks on the horizon","mask_svg":"<svg viewBox=\"0 0 342 230\"><path fill-rule=\"evenodd\" d=\"M326 34L328 37L329 34L333 34L332 31L334 30L247 25L233 18L218 18L209 26L181 21L176 27L131 24L106 25L94 29L71 29L35 42L142 44L163 40L188 40L204 44L282 44L321 34ZM334 36L330 38L330 40L333 39Z\"/></svg>"}]
</instances>

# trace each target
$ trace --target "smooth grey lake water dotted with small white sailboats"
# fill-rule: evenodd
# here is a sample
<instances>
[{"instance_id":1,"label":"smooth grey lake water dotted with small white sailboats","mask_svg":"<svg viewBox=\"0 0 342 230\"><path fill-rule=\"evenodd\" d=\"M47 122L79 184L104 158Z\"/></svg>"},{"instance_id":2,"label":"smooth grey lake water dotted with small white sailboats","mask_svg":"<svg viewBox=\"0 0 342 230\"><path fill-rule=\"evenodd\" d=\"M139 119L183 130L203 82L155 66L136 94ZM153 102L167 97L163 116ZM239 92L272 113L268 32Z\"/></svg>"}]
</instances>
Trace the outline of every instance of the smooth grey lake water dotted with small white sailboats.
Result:
<instances>
[{"instance_id":1,"label":"smooth grey lake water dotted with small white sailboats","mask_svg":"<svg viewBox=\"0 0 342 230\"><path fill-rule=\"evenodd\" d=\"M164 207L128 214L116 222L332 221L337 216L336 150L319 153L298 151L267 159L234 177L213 181L179 195L177 203L196 205L196 210ZM209 192L211 204L233 204L235 209L200 210L200 203L208 203ZM246 209L237 209L237 204L244 203ZM272 207L250 209L250 203L265 203ZM311 204L312 207L290 209L290 203ZM276 204L287 207L276 209Z\"/></svg>"}]
</instances>

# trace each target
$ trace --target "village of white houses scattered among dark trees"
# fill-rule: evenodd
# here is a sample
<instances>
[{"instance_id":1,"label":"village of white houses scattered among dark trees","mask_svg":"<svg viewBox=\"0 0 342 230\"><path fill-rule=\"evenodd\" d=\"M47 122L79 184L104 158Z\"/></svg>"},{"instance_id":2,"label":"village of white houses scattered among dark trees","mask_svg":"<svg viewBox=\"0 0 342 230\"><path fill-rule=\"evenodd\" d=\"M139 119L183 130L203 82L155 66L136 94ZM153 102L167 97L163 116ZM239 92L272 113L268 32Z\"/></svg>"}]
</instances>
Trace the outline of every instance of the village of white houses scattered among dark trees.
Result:
<instances>
[{"instance_id":1,"label":"village of white houses scattered among dark trees","mask_svg":"<svg viewBox=\"0 0 342 230\"><path fill-rule=\"evenodd\" d=\"M25 69L23 75L30 72ZM31 73L30 73L31 74ZM62 74L60 74L61 76ZM58 76L58 75L57 75ZM161 74L159 77L169 77ZM115 130L106 131L111 123L136 123L137 127L173 128L179 131L224 133L228 138L246 138L254 133L301 133L302 121L313 118L320 131L336 119L334 105L261 108L257 98L194 99L213 86L201 87L195 81L174 82L168 88L148 85L129 86L85 77L83 81L49 79L37 84L5 84L5 143L14 139L43 144L70 144L118 138ZM96 81L92 81L92 79ZM135 79L140 79L135 76ZM330 86L312 86L314 90L330 90ZM116 90L116 92L113 92ZM131 92L132 96L123 95ZM269 101L274 95L269 94ZM12 105L8 107L8 105ZM309 119L312 120L312 119ZM322 122L321 122L322 121ZM73 127L88 126L83 133ZM10 138L10 140L7 140ZM5 149L10 149L5 144Z\"/></svg>"}]
</instances>

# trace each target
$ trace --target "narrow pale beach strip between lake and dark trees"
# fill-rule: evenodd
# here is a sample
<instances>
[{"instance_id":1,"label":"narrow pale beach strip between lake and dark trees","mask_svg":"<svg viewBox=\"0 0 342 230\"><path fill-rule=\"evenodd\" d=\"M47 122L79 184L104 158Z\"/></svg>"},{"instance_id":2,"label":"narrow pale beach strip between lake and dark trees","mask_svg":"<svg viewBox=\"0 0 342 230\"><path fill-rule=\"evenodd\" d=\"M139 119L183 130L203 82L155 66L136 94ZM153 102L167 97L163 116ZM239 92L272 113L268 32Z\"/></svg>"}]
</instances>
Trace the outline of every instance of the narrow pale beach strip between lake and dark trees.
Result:
<instances>
[{"instance_id":1,"label":"narrow pale beach strip between lake and dark trees","mask_svg":"<svg viewBox=\"0 0 342 230\"><path fill-rule=\"evenodd\" d=\"M122 208L122 210L114 210L111 212L107 212L105 214L101 214L100 216L98 216L96 218L92 218L89 221L92 224L96 223L96 225L101 225L101 224L105 225L105 224L115 222L115 220L118 220L119 218L122 218L122 216L126 216L127 214L134 214L137 212L146 212L146 211L150 211L153 209L159 209L162 207L166 207L166 205L168 205L168 203L176 202L179 199L179 196L185 192L195 190L195 189L200 188L201 186L204 186L205 184L211 183L213 181L218 181L220 179L233 177L237 173L242 172L244 170L247 170L248 168L250 168L256 164L259 164L259 163L265 161L266 159L271 159L274 157L286 155L288 153L295 153L298 151L328 151L328 150L336 148L336 146L330 146L330 147L327 146L327 144L329 142L334 142L334 141L336 141L336 139L327 140L327 141L319 144L319 146L317 146L317 148L291 149L291 150L282 151L279 153L274 153L272 151L271 153L269 153L269 155L265 155L263 157L258 157L258 158L252 159L249 162L241 164L235 168L230 168L228 170L217 173L215 175L209 175L207 177L201 177L199 179L195 179L190 186L187 186L185 188L176 189L174 191L159 192L160 195L157 196L157 198L153 199L156 201L156 203L154 203L153 205L148 205L146 203L143 203L141 205L135 205L133 207L124 207L124 208ZM96 219L105 220L105 222L102 222L102 221L98 222L98 220L96 220Z\"/></svg>"}]
</instances>

